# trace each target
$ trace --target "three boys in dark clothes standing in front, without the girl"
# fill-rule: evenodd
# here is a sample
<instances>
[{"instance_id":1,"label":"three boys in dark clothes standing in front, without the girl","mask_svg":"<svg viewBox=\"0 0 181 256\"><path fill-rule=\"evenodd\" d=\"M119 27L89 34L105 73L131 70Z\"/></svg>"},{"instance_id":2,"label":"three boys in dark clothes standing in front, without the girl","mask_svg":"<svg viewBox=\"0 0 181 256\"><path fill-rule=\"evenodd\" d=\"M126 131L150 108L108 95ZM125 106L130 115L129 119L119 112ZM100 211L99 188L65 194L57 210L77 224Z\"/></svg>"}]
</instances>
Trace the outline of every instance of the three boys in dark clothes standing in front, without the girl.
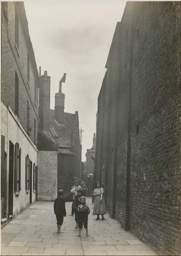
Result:
<instances>
[{"instance_id":1,"label":"three boys in dark clothes standing in front, without the girl","mask_svg":"<svg viewBox=\"0 0 181 256\"><path fill-rule=\"evenodd\" d=\"M61 225L63 224L63 217L66 217L66 209L65 209L65 200L63 198L63 190L58 191L58 197L54 202L54 213L57 218L57 233L63 233L61 229ZM86 205L86 198L82 196L82 190L77 191L77 196L75 196L74 200L74 213L75 213L75 221L76 227L78 228L78 235L81 235L81 229L84 228L86 230L86 236L88 234L88 215L90 213L90 209L88 205Z\"/></svg>"}]
</instances>

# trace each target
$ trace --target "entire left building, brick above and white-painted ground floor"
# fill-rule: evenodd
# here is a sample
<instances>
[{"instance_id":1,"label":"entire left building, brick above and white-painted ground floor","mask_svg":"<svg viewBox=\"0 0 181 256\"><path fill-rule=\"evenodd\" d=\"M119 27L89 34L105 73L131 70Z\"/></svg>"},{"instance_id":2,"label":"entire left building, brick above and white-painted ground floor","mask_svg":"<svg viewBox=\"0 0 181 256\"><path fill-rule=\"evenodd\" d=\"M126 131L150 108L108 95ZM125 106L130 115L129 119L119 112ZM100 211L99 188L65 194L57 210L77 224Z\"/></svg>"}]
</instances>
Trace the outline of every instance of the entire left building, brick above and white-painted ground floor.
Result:
<instances>
[{"instance_id":1,"label":"entire left building, brick above and white-painted ground floor","mask_svg":"<svg viewBox=\"0 0 181 256\"><path fill-rule=\"evenodd\" d=\"M41 85L24 3L1 4L1 217L6 223L37 197Z\"/></svg>"}]
</instances>

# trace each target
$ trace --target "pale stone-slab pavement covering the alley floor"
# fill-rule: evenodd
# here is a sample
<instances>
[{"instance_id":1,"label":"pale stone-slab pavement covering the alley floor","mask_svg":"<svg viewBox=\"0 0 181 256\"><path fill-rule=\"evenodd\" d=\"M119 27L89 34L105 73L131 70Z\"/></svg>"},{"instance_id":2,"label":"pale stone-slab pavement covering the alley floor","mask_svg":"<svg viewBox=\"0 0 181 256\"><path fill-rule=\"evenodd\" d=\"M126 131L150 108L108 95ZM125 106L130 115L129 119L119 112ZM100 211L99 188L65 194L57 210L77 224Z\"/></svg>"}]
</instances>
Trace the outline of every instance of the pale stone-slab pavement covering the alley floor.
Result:
<instances>
[{"instance_id":1,"label":"pale stone-slab pavement covering the alley floor","mask_svg":"<svg viewBox=\"0 0 181 256\"><path fill-rule=\"evenodd\" d=\"M120 224L111 219L96 221L92 216L93 204L87 198L90 207L89 237L74 229L74 216L71 202L66 203L67 217L57 234L54 202L36 202L23 211L2 229L2 255L157 255L147 245L124 231Z\"/></svg>"}]
</instances>

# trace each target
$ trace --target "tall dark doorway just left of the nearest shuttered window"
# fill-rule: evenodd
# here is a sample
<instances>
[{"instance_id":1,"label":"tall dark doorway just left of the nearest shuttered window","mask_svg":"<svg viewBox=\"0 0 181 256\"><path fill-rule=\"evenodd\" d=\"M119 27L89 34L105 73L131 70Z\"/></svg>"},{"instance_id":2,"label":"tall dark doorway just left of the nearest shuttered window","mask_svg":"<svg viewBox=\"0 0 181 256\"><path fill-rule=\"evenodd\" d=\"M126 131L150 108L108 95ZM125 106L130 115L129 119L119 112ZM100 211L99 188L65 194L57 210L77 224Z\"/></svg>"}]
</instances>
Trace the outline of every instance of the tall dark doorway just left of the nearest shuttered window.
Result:
<instances>
[{"instance_id":1,"label":"tall dark doorway just left of the nearest shuttered window","mask_svg":"<svg viewBox=\"0 0 181 256\"><path fill-rule=\"evenodd\" d=\"M9 141L9 189L8 189L8 217L13 213L13 184L14 184L14 144Z\"/></svg>"}]
</instances>

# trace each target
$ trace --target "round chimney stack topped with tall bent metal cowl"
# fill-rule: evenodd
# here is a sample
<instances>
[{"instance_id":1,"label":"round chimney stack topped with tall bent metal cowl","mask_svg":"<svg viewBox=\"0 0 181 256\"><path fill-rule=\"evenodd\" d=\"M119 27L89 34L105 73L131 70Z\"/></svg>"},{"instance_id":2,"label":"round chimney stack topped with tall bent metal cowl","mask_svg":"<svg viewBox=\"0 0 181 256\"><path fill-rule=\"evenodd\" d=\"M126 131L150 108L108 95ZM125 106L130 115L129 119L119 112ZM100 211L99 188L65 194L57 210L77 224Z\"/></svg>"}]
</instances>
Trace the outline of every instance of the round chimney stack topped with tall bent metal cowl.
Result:
<instances>
[{"instance_id":1,"label":"round chimney stack topped with tall bent metal cowl","mask_svg":"<svg viewBox=\"0 0 181 256\"><path fill-rule=\"evenodd\" d=\"M61 125L64 124L64 99L65 94L61 92L61 83L65 82L66 73L59 82L59 92L55 94L55 120Z\"/></svg>"}]
</instances>

